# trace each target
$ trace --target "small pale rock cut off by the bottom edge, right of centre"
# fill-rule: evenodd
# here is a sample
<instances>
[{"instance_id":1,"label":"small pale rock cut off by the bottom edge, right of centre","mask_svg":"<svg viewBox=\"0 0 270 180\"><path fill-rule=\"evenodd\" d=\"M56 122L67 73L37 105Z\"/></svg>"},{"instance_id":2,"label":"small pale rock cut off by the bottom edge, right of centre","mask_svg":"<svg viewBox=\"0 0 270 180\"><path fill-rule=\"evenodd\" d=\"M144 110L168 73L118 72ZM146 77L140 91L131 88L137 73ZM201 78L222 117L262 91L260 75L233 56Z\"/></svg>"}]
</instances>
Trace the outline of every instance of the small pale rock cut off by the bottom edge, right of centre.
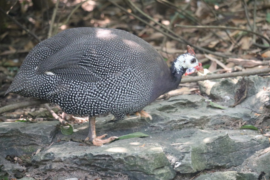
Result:
<instances>
[{"instance_id":1,"label":"small pale rock cut off by the bottom edge, right of centre","mask_svg":"<svg viewBox=\"0 0 270 180\"><path fill-rule=\"evenodd\" d=\"M194 180L254 180L255 175L252 173L241 173L237 171L212 172L201 174Z\"/></svg>"}]
</instances>

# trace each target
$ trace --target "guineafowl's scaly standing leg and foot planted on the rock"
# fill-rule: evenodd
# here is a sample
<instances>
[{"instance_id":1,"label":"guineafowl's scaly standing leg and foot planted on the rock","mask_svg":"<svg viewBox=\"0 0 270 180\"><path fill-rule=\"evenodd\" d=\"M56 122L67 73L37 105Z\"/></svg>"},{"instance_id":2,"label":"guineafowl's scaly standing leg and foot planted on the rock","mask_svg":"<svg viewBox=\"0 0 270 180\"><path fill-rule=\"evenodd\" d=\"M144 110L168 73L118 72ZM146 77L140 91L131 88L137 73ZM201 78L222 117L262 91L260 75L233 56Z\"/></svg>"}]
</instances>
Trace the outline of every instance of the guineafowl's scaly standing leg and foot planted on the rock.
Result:
<instances>
[{"instance_id":1,"label":"guineafowl's scaly standing leg and foot planted on the rock","mask_svg":"<svg viewBox=\"0 0 270 180\"><path fill-rule=\"evenodd\" d=\"M96 136L95 134L95 117L90 117L89 118L89 133L88 136L85 138L85 140L90 140L92 141L93 145L100 146L103 145L103 143L108 143L118 137L116 136L111 136L107 139L101 139L105 137L107 134L103 134L100 136Z\"/></svg>"}]
</instances>

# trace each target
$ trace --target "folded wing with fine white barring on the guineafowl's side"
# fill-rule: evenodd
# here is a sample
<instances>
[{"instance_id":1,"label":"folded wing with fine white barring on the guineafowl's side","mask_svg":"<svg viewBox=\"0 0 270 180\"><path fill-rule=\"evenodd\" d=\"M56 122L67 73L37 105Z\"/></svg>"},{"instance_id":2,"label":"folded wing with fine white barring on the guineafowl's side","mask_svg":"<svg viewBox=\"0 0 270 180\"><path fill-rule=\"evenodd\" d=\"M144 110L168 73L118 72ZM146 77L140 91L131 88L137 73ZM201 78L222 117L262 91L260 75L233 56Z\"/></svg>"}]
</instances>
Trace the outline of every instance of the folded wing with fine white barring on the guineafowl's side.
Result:
<instances>
[{"instance_id":1,"label":"folded wing with fine white barring on the guineafowl's side","mask_svg":"<svg viewBox=\"0 0 270 180\"><path fill-rule=\"evenodd\" d=\"M111 73L105 63L104 56L96 48L72 45L43 59L36 67L36 72L94 82Z\"/></svg>"}]
</instances>

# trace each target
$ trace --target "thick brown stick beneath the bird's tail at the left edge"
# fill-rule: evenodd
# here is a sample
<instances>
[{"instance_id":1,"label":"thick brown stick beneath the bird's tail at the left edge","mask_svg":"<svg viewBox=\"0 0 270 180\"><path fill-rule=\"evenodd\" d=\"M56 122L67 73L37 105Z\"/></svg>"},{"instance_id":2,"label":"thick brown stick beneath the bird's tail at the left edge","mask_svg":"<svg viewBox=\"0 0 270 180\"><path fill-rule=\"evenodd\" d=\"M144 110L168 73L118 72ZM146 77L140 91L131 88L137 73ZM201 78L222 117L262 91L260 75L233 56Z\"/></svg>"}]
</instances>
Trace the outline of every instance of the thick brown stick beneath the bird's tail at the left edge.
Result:
<instances>
[{"instance_id":1,"label":"thick brown stick beneath the bird's tail at the left edge","mask_svg":"<svg viewBox=\"0 0 270 180\"><path fill-rule=\"evenodd\" d=\"M10 110L15 110L18 108L28 107L28 106L32 106L32 105L40 105L40 104L47 103L47 102L48 101L41 100L41 99L33 99L33 100L25 100L25 101L17 102L14 104L0 107L0 114L7 112L7 111L10 111Z\"/></svg>"}]
</instances>

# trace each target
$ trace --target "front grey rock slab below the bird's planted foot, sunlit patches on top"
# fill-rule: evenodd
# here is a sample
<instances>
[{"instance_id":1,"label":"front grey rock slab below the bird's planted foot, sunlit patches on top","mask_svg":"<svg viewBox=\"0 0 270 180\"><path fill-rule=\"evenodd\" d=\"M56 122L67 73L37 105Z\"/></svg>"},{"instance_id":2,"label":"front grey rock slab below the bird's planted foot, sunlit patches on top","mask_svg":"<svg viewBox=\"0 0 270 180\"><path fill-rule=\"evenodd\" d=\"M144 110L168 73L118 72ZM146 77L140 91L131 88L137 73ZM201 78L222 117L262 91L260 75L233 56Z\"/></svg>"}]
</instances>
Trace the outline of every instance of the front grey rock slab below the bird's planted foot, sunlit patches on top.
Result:
<instances>
[{"instance_id":1,"label":"front grey rock slab below the bird's planted foot, sunlit patches on top","mask_svg":"<svg viewBox=\"0 0 270 180\"><path fill-rule=\"evenodd\" d=\"M161 146L143 144L144 140L140 138L118 140L100 147L85 147L67 142L34 155L32 163L41 171L69 171L78 168L109 177L127 174L130 179L172 179L175 171Z\"/></svg>"}]
</instances>

